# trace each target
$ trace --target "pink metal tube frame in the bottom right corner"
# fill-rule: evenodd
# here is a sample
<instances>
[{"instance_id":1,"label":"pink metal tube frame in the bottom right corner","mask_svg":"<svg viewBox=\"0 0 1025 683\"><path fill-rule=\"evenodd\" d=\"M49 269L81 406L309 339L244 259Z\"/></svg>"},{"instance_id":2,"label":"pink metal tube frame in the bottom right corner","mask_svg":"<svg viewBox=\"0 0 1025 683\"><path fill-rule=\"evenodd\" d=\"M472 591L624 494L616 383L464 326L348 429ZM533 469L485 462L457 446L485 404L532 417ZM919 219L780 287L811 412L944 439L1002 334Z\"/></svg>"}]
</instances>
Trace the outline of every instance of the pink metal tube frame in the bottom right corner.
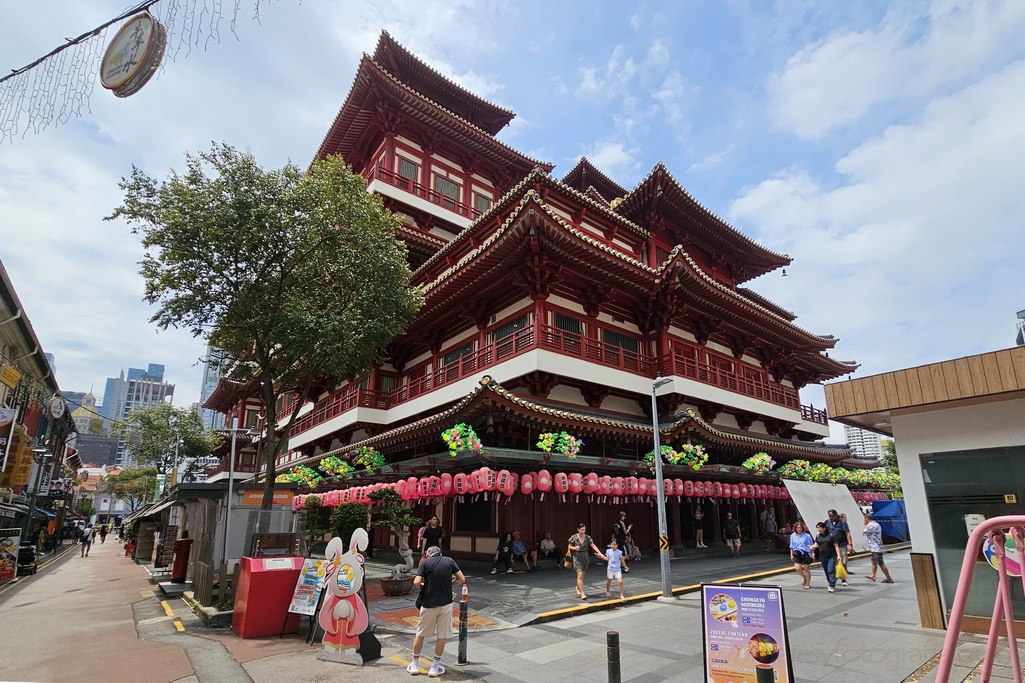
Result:
<instances>
[{"instance_id":1,"label":"pink metal tube frame in the bottom right corner","mask_svg":"<svg viewBox=\"0 0 1025 683\"><path fill-rule=\"evenodd\" d=\"M957 578L957 592L950 608L950 620L947 624L947 635L943 639L943 652L940 654L940 665L936 668L936 683L947 683L950 669L953 666L954 649L960 636L960 625L965 618L965 605L972 588L972 575L975 572L976 558L982 549L983 540L993 544L993 551L999 559L999 571L996 585L996 598L993 603L993 616L989 621L989 639L986 641L986 656L982 664L980 681L989 681L993 671L993 656L996 653L996 639L1000 620L1008 630L1008 648L1011 652L1011 668L1015 672L1015 683L1022 683L1021 664L1018 657L1018 640L1015 637L1015 615L1011 606L1011 581L1008 580L1006 569L1007 554L1003 549L1004 534L1010 532L1018 547L1018 566L1025 567L1025 516L1010 515L994 517L977 526L969 536L965 548L965 560L961 562L960 576ZM1025 590L1025 573L1022 577L1022 588Z\"/></svg>"}]
</instances>

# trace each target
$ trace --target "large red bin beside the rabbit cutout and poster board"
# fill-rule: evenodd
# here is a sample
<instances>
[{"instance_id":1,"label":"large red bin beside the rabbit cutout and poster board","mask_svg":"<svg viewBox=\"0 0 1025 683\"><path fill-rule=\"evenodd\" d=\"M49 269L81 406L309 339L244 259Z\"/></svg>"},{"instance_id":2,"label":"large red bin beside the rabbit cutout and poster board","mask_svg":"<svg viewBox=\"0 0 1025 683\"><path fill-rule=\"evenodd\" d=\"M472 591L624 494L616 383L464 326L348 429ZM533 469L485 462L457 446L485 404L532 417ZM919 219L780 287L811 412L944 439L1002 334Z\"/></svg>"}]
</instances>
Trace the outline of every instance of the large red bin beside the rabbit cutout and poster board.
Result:
<instances>
[{"instance_id":1,"label":"large red bin beside the rabbit cutout and poster board","mask_svg":"<svg viewBox=\"0 0 1025 683\"><path fill-rule=\"evenodd\" d=\"M288 611L302 571L301 557L244 557L239 563L232 631L239 638L295 633L299 615Z\"/></svg>"}]
</instances>

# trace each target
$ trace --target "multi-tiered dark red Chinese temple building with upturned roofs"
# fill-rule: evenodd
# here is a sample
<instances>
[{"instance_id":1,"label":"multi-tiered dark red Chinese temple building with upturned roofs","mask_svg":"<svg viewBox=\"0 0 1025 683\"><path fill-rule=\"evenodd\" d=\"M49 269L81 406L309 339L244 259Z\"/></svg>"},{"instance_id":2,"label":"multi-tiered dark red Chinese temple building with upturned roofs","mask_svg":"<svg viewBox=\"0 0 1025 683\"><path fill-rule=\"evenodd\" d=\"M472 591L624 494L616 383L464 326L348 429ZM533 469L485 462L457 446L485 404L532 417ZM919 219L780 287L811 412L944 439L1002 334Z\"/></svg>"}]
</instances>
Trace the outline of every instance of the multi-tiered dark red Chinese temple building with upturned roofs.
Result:
<instances>
[{"instance_id":1,"label":"multi-tiered dark red Chinese temple building with upturned roofs","mask_svg":"<svg viewBox=\"0 0 1025 683\"><path fill-rule=\"evenodd\" d=\"M650 478L653 391L661 443L708 454L698 470L667 464L666 478L766 483L739 467L757 452L777 463L865 466L819 441L829 433L826 413L799 396L857 365L829 357L836 338L802 328L794 313L746 286L789 256L715 215L661 163L632 189L587 159L557 176L551 164L495 137L514 116L386 33L363 56L317 157L340 155L402 216L398 236L425 304L382 364L324 393L283 428L288 452L279 471L371 447L386 467L320 488L484 466L521 476ZM653 390L657 377L669 381ZM222 376L205 405L246 425L258 403ZM473 428L483 452L450 456L441 433L456 424ZM561 432L583 440L575 457L538 448L539 435ZM238 472L259 467L249 450L240 457ZM653 497L552 489L416 506L441 517L456 556L492 554L505 530L533 541L544 531L566 538L580 522L604 543L621 510L642 548L657 541ZM787 500L673 495L673 545L693 546L696 506L711 520L706 539L719 537L728 510L747 537L757 537L769 507L781 524L792 517Z\"/></svg>"}]
</instances>

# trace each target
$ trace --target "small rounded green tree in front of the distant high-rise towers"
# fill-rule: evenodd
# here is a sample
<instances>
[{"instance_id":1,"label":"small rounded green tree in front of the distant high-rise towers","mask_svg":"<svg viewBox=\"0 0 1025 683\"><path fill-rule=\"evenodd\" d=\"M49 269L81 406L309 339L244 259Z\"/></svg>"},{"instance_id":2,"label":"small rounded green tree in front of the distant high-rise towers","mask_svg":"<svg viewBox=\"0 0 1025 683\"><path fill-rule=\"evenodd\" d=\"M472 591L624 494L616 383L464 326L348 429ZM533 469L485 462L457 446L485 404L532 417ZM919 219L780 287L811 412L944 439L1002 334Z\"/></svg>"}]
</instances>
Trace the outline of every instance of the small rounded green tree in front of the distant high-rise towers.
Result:
<instances>
[{"instance_id":1,"label":"small rounded green tree in front of the distant high-rise towers","mask_svg":"<svg viewBox=\"0 0 1025 683\"><path fill-rule=\"evenodd\" d=\"M159 474L168 474L187 458L209 455L221 438L206 430L195 410L169 403L133 408L114 420L111 433L128 444L136 461Z\"/></svg>"}]
</instances>

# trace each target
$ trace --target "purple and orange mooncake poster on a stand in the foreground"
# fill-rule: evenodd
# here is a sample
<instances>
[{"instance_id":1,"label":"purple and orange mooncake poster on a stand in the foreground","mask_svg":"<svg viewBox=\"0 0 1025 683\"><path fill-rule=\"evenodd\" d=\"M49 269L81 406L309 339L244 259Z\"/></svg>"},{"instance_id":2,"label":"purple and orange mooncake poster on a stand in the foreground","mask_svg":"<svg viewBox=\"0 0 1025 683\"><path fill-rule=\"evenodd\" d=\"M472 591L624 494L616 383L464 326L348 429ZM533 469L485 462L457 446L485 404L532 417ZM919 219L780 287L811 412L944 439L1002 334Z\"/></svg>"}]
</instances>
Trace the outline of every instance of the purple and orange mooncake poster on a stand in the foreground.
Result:
<instances>
[{"instance_id":1,"label":"purple and orange mooncake poster on a stand in the foreground","mask_svg":"<svg viewBox=\"0 0 1025 683\"><path fill-rule=\"evenodd\" d=\"M705 680L793 683L783 590L701 586Z\"/></svg>"}]
</instances>

